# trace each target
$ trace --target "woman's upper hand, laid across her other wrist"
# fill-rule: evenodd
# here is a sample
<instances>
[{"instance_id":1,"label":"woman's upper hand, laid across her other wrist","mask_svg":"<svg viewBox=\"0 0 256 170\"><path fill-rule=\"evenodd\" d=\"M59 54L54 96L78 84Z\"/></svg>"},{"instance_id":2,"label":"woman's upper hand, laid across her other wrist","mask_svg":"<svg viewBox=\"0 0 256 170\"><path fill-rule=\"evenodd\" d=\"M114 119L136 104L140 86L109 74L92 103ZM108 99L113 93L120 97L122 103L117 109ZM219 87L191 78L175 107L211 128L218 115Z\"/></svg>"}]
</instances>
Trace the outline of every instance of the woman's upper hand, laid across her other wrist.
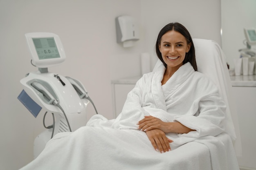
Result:
<instances>
[{"instance_id":1,"label":"woman's upper hand, laid across her other wrist","mask_svg":"<svg viewBox=\"0 0 256 170\"><path fill-rule=\"evenodd\" d=\"M160 129L163 132L170 132L169 123L164 122L156 117L153 116L145 116L144 119L138 122L138 129L141 131L148 131L152 129Z\"/></svg>"}]
</instances>

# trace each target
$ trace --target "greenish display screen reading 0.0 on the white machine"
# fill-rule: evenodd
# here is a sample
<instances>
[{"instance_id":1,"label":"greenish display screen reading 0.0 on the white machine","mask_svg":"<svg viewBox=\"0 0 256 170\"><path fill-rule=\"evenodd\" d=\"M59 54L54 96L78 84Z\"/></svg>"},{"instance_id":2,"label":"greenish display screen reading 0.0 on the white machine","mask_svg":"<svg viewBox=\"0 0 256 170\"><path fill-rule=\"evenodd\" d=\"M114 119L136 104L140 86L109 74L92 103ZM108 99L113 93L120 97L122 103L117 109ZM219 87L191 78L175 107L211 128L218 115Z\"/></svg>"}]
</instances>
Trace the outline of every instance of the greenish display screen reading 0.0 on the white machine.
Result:
<instances>
[{"instance_id":1,"label":"greenish display screen reading 0.0 on the white machine","mask_svg":"<svg viewBox=\"0 0 256 170\"><path fill-rule=\"evenodd\" d=\"M60 58L54 38L32 38L39 60Z\"/></svg>"}]
</instances>

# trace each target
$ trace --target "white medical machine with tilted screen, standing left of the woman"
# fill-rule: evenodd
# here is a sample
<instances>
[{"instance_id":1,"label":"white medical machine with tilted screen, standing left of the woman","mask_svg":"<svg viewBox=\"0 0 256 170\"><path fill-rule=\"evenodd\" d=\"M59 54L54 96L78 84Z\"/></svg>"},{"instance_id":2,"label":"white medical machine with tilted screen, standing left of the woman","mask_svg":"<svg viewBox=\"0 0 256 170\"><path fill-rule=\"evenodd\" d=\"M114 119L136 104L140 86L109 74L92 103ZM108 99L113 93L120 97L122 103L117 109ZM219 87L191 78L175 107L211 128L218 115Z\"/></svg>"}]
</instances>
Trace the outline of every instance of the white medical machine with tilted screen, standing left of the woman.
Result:
<instances>
[{"instance_id":1,"label":"white medical machine with tilted screen, standing left of the woman","mask_svg":"<svg viewBox=\"0 0 256 170\"><path fill-rule=\"evenodd\" d=\"M31 53L31 64L38 71L28 73L20 80L24 90L18 99L36 117L41 108L52 113L53 125L45 126L34 141L34 158L45 144L58 132L71 132L86 124L85 109L89 101L83 84L74 78L48 72L48 67L65 61L65 51L58 35L54 33L27 33L27 45ZM94 106L94 104L93 104ZM94 106L97 113L97 110Z\"/></svg>"}]
</instances>

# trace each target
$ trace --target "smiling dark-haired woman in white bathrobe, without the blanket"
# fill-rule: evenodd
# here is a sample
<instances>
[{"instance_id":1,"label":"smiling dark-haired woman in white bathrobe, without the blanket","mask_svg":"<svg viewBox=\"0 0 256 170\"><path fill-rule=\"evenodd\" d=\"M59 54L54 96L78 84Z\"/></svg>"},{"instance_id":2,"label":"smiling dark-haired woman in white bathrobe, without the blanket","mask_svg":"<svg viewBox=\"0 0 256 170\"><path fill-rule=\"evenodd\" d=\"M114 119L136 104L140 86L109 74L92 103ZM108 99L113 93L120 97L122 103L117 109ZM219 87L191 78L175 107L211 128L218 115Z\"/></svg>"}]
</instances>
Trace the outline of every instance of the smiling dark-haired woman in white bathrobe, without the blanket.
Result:
<instances>
[{"instance_id":1,"label":"smiling dark-haired woman in white bathrobe, without the blanket","mask_svg":"<svg viewBox=\"0 0 256 170\"><path fill-rule=\"evenodd\" d=\"M112 127L135 128L132 123L139 119L138 129L161 153L171 150L169 143L173 148L184 144L187 139L181 137L193 140L223 132L225 103L217 87L197 72L189 31L179 23L167 24L155 48L162 66L137 82Z\"/></svg>"}]
</instances>

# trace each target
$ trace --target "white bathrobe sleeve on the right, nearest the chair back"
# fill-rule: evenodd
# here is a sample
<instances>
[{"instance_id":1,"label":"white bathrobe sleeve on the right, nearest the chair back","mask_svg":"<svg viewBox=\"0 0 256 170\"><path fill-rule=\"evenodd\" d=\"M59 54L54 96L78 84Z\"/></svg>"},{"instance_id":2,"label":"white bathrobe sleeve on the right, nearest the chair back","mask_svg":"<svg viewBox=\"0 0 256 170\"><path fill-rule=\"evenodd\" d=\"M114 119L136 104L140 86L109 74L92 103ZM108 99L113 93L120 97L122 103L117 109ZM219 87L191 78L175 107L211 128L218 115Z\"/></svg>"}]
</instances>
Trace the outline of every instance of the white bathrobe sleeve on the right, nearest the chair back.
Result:
<instances>
[{"instance_id":1,"label":"white bathrobe sleeve on the right, nearest the chair back","mask_svg":"<svg viewBox=\"0 0 256 170\"><path fill-rule=\"evenodd\" d=\"M218 88L207 77L194 77L197 81L194 91L191 92L194 101L189 112L197 112L192 115L188 113L184 116L176 116L174 121L178 121L184 126L193 130L187 134L178 134L185 137L216 136L223 132L226 104L218 93ZM194 111L193 111L194 110Z\"/></svg>"}]
</instances>

